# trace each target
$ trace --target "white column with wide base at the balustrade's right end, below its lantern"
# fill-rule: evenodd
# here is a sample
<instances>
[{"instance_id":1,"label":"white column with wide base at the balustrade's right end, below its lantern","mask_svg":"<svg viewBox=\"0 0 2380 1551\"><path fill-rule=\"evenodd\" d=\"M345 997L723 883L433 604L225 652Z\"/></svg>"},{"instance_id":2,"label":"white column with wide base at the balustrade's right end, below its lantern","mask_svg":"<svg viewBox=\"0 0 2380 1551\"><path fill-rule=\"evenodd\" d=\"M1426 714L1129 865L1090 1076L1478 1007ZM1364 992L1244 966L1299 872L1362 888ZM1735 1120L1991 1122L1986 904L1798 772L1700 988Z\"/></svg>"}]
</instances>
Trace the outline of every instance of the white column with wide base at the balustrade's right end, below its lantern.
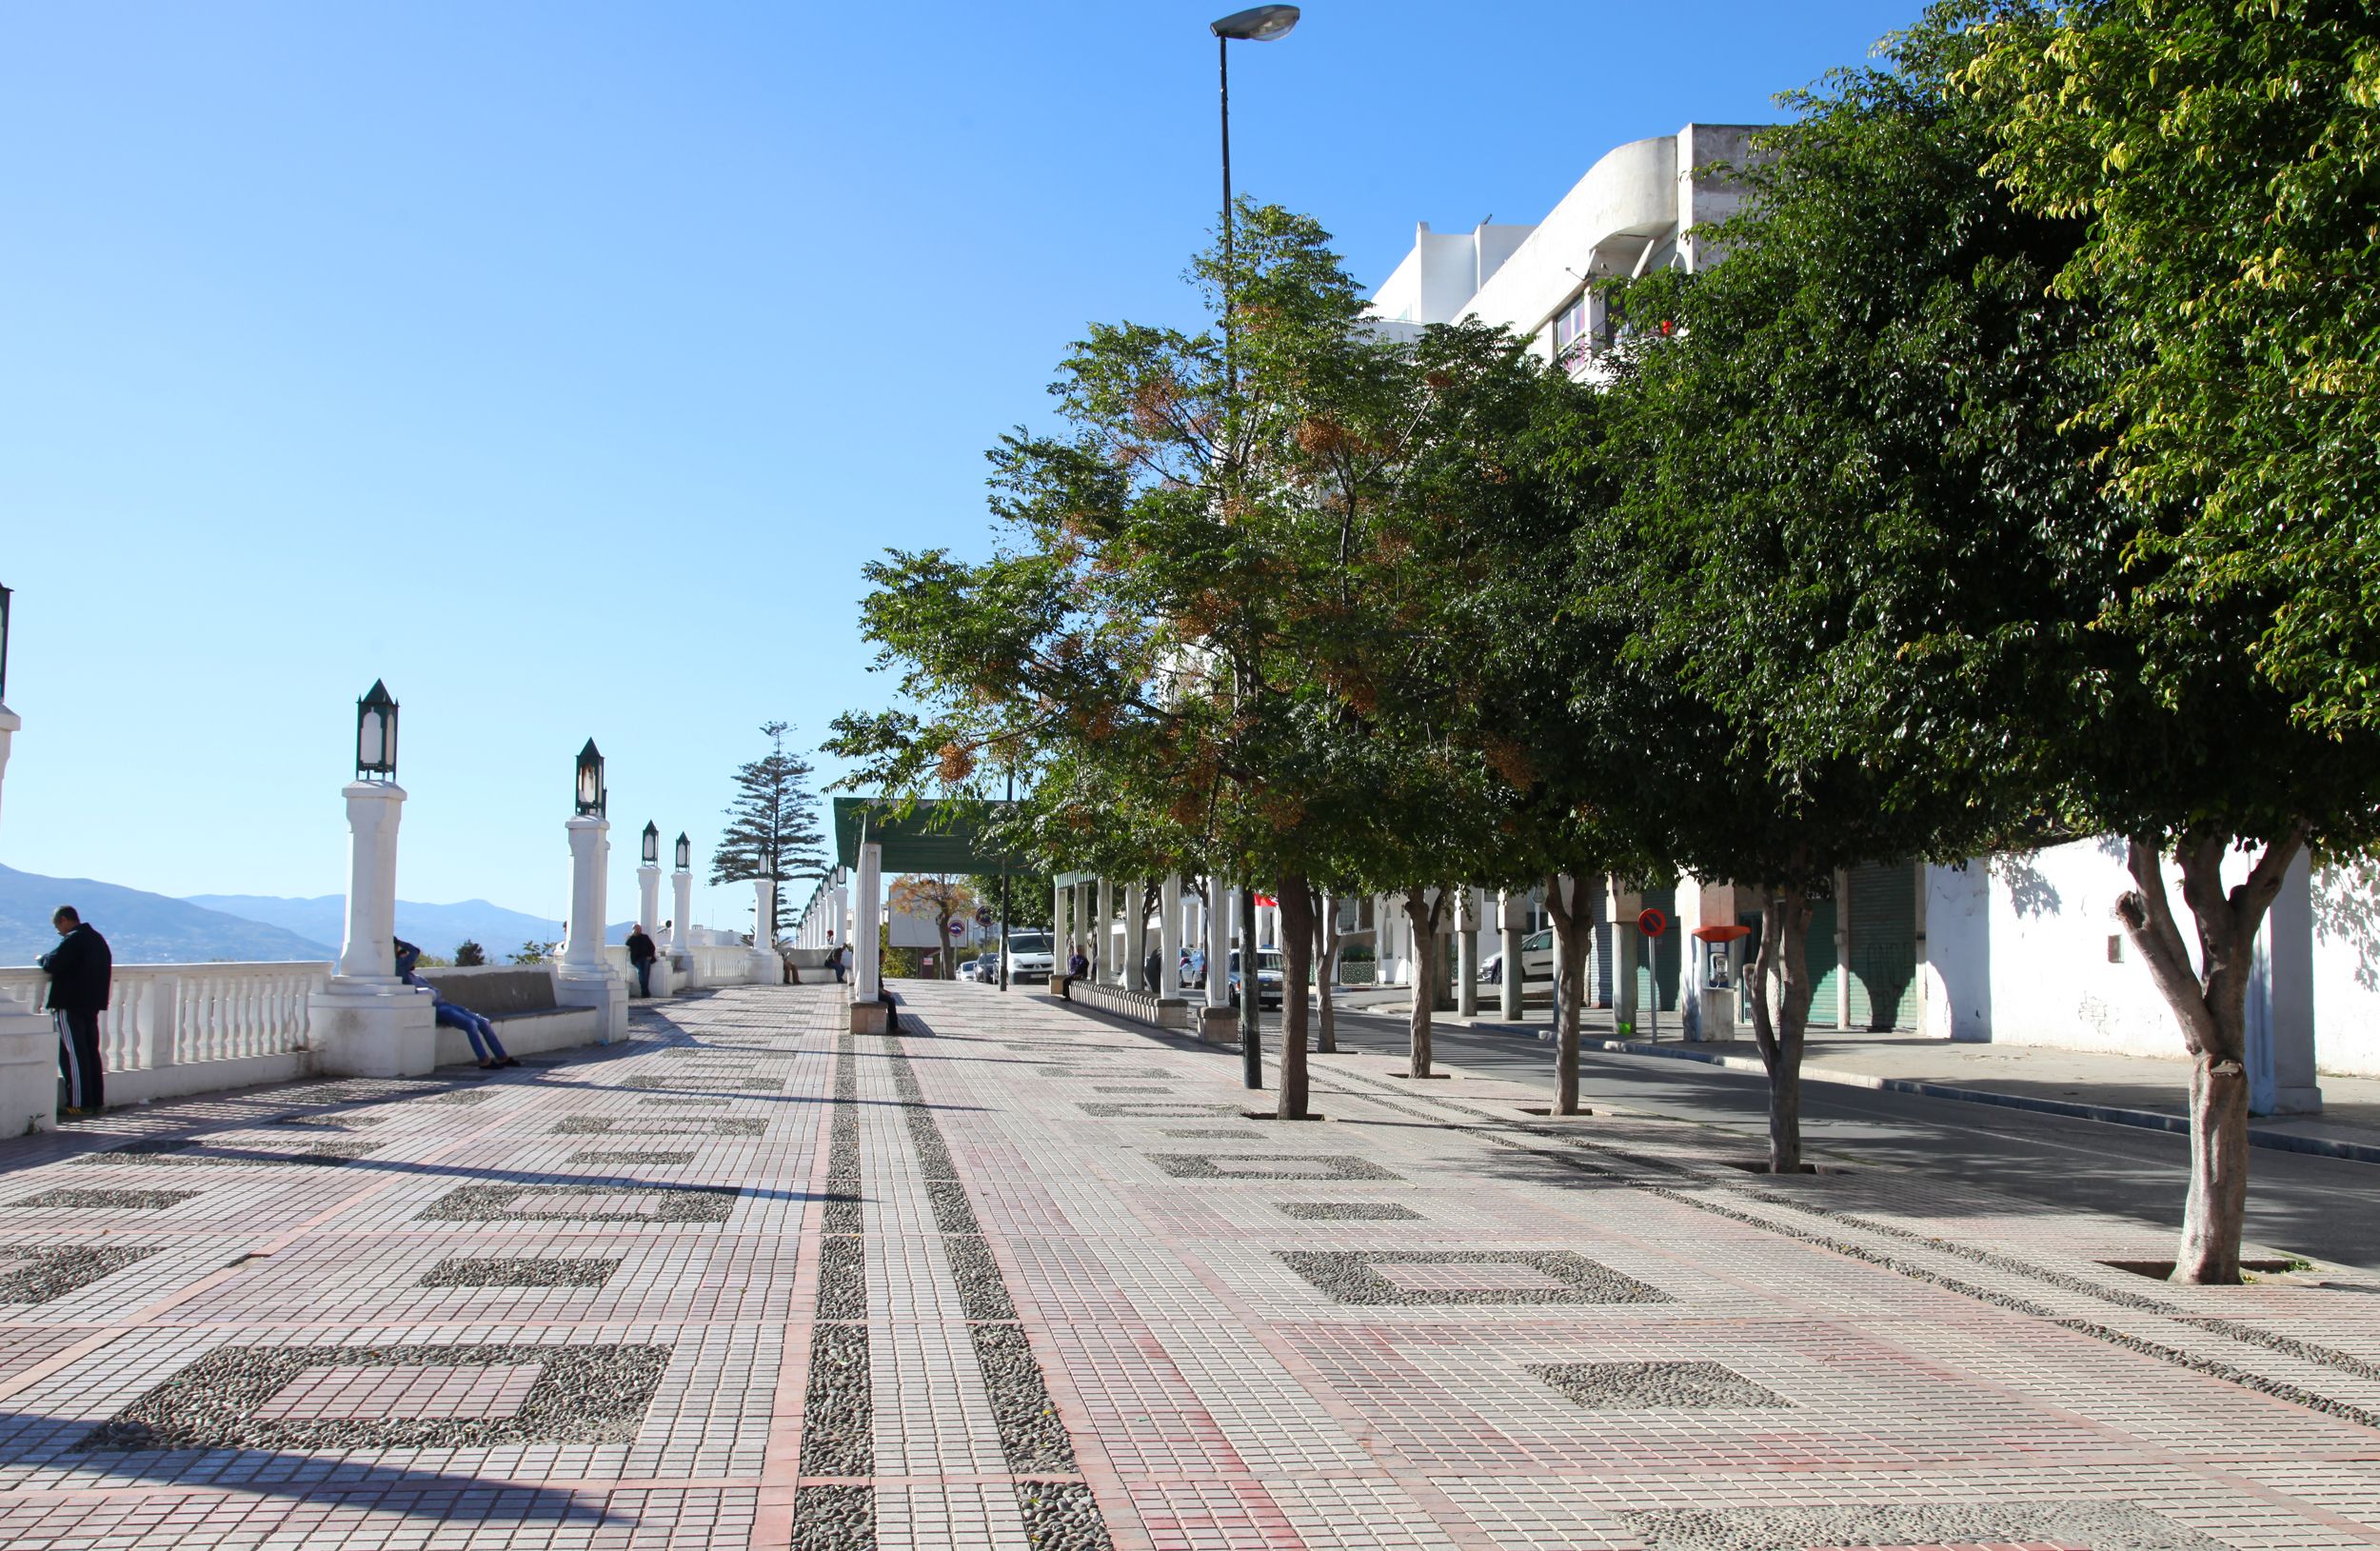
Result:
<instances>
[{"instance_id":1,"label":"white column with wide base at the balustrade's right end, below its lantern","mask_svg":"<svg viewBox=\"0 0 2380 1551\"><path fill-rule=\"evenodd\" d=\"M397 980L397 814L405 787L355 780L347 799L347 942L314 992L309 1040L338 1078L419 1078L438 1066L431 992Z\"/></svg>"}]
</instances>

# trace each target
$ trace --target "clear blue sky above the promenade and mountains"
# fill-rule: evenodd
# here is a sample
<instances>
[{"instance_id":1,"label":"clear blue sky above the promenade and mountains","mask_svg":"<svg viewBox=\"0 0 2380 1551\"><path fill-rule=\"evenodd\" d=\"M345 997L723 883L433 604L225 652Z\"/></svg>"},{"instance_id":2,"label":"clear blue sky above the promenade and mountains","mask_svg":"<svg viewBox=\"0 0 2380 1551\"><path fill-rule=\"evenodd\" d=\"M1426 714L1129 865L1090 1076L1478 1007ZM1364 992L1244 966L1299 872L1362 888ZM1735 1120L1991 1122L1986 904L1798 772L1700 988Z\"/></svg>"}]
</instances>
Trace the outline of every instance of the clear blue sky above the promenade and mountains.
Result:
<instances>
[{"instance_id":1,"label":"clear blue sky above the promenade and mountains","mask_svg":"<svg viewBox=\"0 0 2380 1551\"><path fill-rule=\"evenodd\" d=\"M985 542L1066 340L1188 316L1228 7L0 5L0 861L340 892L386 678L407 899L559 916L593 735L628 913L762 721L881 699L862 561ZM1378 281L1914 14L1316 0L1238 188Z\"/></svg>"}]
</instances>

